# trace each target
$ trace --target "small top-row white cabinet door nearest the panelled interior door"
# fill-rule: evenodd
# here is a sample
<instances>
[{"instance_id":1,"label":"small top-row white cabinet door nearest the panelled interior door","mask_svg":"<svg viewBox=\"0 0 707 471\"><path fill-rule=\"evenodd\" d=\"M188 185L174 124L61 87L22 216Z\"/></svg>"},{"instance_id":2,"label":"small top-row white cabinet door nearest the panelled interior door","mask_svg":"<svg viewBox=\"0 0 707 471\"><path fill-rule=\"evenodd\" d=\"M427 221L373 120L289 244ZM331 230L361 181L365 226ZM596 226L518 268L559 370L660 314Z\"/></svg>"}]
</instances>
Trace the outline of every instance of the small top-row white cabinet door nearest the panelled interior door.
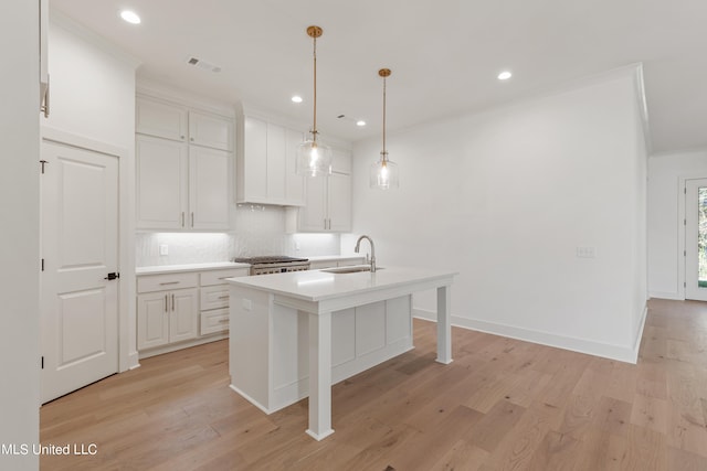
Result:
<instances>
[{"instance_id":1,"label":"small top-row white cabinet door nearest the panelled interior door","mask_svg":"<svg viewBox=\"0 0 707 471\"><path fill-rule=\"evenodd\" d=\"M187 108L151 98L135 104L136 132L165 139L187 140Z\"/></svg>"}]
</instances>

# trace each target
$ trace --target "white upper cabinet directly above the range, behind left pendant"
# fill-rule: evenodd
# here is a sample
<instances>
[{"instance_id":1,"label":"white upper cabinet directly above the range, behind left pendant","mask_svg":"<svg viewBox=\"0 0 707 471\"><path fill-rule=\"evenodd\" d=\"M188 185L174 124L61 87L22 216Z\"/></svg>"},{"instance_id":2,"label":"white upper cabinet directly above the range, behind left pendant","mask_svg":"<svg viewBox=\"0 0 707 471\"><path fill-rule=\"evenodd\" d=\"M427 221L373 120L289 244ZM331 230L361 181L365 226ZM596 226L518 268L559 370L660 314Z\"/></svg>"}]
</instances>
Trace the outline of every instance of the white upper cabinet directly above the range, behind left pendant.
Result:
<instances>
[{"instance_id":1,"label":"white upper cabinet directly above the range, behind left pendant","mask_svg":"<svg viewBox=\"0 0 707 471\"><path fill-rule=\"evenodd\" d=\"M245 116L236 156L239 203L299 206L305 204L304 176L295 173L295 151L303 133Z\"/></svg>"}]
</instances>

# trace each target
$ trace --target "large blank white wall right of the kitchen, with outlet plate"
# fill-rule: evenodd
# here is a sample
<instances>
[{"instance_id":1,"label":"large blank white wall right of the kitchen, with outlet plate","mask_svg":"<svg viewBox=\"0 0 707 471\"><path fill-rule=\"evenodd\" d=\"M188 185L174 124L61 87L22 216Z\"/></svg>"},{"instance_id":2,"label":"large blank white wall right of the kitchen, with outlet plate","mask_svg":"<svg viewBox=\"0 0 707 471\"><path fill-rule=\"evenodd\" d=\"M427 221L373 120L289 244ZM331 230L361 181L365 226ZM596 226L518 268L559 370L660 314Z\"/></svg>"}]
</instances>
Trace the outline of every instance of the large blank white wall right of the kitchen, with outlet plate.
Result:
<instances>
[{"instance_id":1,"label":"large blank white wall right of the kitchen, with outlet plate","mask_svg":"<svg viewBox=\"0 0 707 471\"><path fill-rule=\"evenodd\" d=\"M639 77L626 68L391 135L398 192L368 189L380 142L358 143L354 232L373 237L380 266L458 270L460 325L635 361L646 301ZM578 258L578 246L597 257ZM433 293L415 307L433 311Z\"/></svg>"}]
</instances>

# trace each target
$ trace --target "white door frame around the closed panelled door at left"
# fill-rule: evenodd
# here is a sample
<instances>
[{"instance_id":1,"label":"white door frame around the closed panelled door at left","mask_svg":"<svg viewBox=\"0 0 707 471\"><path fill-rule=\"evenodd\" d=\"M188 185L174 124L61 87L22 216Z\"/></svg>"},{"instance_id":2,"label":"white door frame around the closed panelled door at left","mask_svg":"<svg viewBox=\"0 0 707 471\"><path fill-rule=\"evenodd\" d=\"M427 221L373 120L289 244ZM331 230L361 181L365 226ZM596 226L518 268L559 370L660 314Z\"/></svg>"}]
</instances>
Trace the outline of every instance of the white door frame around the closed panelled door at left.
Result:
<instances>
[{"instance_id":1,"label":"white door frame around the closed panelled door at left","mask_svg":"<svg viewBox=\"0 0 707 471\"><path fill-rule=\"evenodd\" d=\"M139 366L135 307L135 157L105 142L42 126L42 141L57 142L118 158L118 372Z\"/></svg>"}]
</instances>

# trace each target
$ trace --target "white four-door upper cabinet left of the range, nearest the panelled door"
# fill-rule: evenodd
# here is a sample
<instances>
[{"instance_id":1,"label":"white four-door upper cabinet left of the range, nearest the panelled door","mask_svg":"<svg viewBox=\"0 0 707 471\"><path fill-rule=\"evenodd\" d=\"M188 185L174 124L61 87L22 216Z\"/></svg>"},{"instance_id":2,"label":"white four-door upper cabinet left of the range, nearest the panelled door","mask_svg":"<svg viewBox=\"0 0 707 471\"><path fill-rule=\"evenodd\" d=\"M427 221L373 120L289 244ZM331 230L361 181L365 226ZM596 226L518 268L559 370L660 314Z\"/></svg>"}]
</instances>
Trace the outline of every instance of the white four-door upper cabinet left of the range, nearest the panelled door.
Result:
<instances>
[{"instance_id":1,"label":"white four-door upper cabinet left of the range, nearest the panelled door","mask_svg":"<svg viewBox=\"0 0 707 471\"><path fill-rule=\"evenodd\" d=\"M226 231L233 121L139 96L137 228Z\"/></svg>"}]
</instances>

